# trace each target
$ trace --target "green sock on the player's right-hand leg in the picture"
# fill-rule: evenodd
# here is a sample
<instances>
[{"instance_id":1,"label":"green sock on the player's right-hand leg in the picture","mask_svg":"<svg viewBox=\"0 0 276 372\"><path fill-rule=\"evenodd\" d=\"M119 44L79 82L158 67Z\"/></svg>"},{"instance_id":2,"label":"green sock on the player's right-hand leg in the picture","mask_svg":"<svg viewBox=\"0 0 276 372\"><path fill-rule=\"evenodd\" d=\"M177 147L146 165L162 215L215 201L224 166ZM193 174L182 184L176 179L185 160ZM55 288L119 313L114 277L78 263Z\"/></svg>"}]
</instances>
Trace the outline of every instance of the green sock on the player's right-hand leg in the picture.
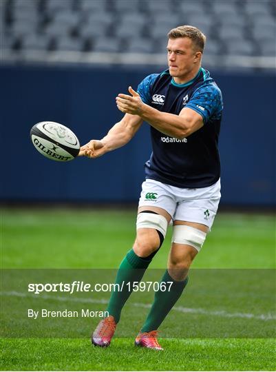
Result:
<instances>
[{"instance_id":1,"label":"green sock on the player's right-hand leg in the picture","mask_svg":"<svg viewBox=\"0 0 276 372\"><path fill-rule=\"evenodd\" d=\"M170 288L170 283L166 285L166 291L160 290L162 287L156 291L151 310L149 311L145 324L142 326L140 332L150 332L158 329L164 318L166 318L167 314L172 309L173 305L176 303L178 298L180 298L184 288L187 285L188 278L178 282L173 280L166 270L161 282L173 283ZM170 290L168 291L168 289Z\"/></svg>"}]
</instances>

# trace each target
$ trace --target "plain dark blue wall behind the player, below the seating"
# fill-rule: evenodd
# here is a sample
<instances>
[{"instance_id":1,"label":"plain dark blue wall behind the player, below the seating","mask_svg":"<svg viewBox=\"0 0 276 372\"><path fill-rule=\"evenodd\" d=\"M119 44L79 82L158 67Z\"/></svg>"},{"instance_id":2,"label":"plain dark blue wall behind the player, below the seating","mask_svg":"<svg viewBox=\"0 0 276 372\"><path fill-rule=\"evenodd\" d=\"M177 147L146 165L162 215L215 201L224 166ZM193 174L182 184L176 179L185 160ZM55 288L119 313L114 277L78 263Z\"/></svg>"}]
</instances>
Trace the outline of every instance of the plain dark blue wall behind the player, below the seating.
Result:
<instances>
[{"instance_id":1,"label":"plain dark blue wall behind the player, below the seating","mask_svg":"<svg viewBox=\"0 0 276 372\"><path fill-rule=\"evenodd\" d=\"M125 147L102 158L58 163L36 152L32 125L57 121L81 143L119 121L115 97L156 69L2 65L0 199L136 202L151 153L145 123ZM224 96L220 136L222 204L275 205L275 74L211 72Z\"/></svg>"}]
</instances>

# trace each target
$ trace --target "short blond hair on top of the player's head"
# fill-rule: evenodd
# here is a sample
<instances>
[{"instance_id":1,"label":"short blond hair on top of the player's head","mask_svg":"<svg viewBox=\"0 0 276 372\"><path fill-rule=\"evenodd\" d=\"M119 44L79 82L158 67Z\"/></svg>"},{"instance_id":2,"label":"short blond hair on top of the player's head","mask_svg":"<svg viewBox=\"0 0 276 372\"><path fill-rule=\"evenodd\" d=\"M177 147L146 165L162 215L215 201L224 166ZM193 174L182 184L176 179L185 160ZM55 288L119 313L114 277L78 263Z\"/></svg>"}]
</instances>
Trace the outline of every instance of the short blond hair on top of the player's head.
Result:
<instances>
[{"instance_id":1,"label":"short blond hair on top of the player's head","mask_svg":"<svg viewBox=\"0 0 276 372\"><path fill-rule=\"evenodd\" d=\"M203 34L203 32L198 30L198 28L191 25L182 25L173 28L168 33L169 39L178 39L180 37L189 37L189 39L191 39L193 42L195 49L203 53L206 36Z\"/></svg>"}]
</instances>

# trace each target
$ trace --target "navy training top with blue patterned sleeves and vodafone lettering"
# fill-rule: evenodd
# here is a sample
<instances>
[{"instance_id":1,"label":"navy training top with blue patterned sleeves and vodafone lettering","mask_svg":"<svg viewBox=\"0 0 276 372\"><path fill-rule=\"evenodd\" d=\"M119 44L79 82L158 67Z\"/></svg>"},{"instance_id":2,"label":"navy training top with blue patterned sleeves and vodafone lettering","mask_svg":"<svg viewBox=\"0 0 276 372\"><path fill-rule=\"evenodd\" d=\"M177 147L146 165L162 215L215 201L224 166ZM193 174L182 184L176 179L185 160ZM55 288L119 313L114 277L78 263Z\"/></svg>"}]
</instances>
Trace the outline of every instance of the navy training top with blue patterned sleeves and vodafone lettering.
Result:
<instances>
[{"instance_id":1,"label":"navy training top with blue patterned sleeves and vodafone lettering","mask_svg":"<svg viewBox=\"0 0 276 372\"><path fill-rule=\"evenodd\" d=\"M182 140L151 127L153 152L145 163L146 178L182 188L213 185L220 178L217 143L223 103L210 73L200 68L185 84L177 84L169 70L151 74L138 85L138 93L144 103L161 112L178 115L183 107L189 107L204 122L200 130Z\"/></svg>"}]
</instances>

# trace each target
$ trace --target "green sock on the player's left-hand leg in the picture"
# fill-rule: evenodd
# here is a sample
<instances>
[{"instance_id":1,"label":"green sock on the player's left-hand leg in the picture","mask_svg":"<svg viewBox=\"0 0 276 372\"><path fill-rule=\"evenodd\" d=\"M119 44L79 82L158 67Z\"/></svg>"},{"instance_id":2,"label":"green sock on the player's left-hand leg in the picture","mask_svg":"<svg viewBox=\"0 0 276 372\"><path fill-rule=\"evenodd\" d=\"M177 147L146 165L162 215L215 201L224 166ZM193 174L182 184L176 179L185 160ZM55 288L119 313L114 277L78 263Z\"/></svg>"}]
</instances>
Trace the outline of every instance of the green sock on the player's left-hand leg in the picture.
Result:
<instances>
[{"instance_id":1,"label":"green sock on the player's left-hand leg in the picture","mask_svg":"<svg viewBox=\"0 0 276 372\"><path fill-rule=\"evenodd\" d=\"M139 257L131 249L120 263L115 283L120 286L123 285L123 288L121 288L121 291L112 292L107 306L109 316L114 316L116 323L120 320L120 312L132 292L133 286L128 286L127 283L140 282L150 262L151 258Z\"/></svg>"}]
</instances>

